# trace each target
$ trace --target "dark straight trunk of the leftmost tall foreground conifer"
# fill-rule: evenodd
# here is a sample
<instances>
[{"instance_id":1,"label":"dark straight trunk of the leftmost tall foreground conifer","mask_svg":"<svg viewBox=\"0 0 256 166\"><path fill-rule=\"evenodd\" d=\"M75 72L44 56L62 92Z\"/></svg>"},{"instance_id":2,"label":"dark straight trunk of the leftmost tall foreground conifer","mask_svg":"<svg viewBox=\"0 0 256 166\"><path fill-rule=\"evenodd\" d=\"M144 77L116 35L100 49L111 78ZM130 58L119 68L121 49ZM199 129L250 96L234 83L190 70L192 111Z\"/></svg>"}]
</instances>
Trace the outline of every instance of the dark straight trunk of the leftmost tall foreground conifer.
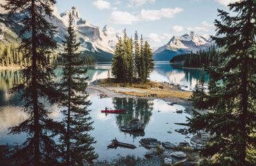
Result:
<instances>
[{"instance_id":1,"label":"dark straight trunk of the leftmost tall foreground conifer","mask_svg":"<svg viewBox=\"0 0 256 166\"><path fill-rule=\"evenodd\" d=\"M36 45L36 18L35 18L35 0L32 0L31 6L32 16L32 100L33 100L33 111L34 111L34 124L35 124L35 166L40 165L40 150L39 150L39 110L38 110L38 99L37 99L37 45Z\"/></svg>"}]
</instances>

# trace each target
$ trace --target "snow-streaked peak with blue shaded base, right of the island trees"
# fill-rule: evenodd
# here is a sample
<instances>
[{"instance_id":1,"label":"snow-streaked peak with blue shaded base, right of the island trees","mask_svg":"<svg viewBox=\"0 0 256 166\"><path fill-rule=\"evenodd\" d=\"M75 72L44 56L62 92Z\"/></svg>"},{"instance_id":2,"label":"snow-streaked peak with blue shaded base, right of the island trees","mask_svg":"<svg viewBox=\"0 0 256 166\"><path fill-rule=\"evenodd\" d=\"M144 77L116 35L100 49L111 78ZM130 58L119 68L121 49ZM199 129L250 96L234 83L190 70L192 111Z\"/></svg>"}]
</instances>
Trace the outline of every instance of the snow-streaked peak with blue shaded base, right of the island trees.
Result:
<instances>
[{"instance_id":1,"label":"snow-streaked peak with blue shaded base, right of the island trees","mask_svg":"<svg viewBox=\"0 0 256 166\"><path fill-rule=\"evenodd\" d=\"M174 36L170 39L170 42L161 46L154 52L154 59L156 61L170 61L172 57L181 55L184 53L190 53L199 50L208 50L208 48L214 44L208 39L196 35L194 32L187 33L181 37Z\"/></svg>"}]
</instances>

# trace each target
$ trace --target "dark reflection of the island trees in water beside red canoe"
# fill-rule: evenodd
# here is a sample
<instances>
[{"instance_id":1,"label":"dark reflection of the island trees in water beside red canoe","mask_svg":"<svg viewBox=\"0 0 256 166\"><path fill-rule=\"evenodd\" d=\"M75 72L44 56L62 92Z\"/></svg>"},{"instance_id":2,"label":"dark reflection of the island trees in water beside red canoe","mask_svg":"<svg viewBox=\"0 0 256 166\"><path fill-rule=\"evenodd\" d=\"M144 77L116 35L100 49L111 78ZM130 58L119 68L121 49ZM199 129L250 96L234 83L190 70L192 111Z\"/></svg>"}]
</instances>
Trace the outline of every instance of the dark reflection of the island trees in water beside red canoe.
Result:
<instances>
[{"instance_id":1,"label":"dark reflection of the island trees in water beside red canoe","mask_svg":"<svg viewBox=\"0 0 256 166\"><path fill-rule=\"evenodd\" d=\"M154 100L141 98L113 98L114 109L126 109L125 113L116 116L116 124L120 128L122 125L127 125L130 120L138 118L145 127L149 124L152 116ZM144 132L129 132L134 138L144 136Z\"/></svg>"}]
</instances>

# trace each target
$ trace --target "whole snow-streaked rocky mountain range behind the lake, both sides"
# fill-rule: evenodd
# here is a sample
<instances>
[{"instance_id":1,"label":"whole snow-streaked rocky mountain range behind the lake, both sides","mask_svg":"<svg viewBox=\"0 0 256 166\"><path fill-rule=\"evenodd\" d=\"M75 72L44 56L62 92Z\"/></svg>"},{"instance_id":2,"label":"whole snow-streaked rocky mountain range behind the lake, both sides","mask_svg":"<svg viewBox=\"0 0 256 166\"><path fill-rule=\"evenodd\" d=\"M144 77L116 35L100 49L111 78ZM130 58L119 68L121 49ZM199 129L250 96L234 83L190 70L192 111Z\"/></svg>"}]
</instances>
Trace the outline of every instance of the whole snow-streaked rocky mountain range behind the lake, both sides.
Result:
<instances>
[{"instance_id":1,"label":"whole snow-streaked rocky mountain range behind the lake, both sides","mask_svg":"<svg viewBox=\"0 0 256 166\"><path fill-rule=\"evenodd\" d=\"M3 4L4 0L0 0ZM104 26L100 29L98 26L94 26L86 19L82 19L80 12L74 6L70 10L65 12L58 12L56 6L53 6L53 17L48 17L54 26L57 27L57 34L55 39L58 44L62 44L62 40L66 35L66 28L68 27L68 14L71 13L73 17L73 24L77 31L77 41L81 43L80 51L84 55L93 55L98 62L111 61L114 53L118 37L122 37L122 34L111 26ZM19 24L17 17L8 17L6 11L0 8L0 41L3 43L10 43L19 40L18 34L22 25ZM213 43L196 35L194 32L187 33L180 37L174 36L170 39L170 42L157 48L154 52L154 59L156 61L170 61L172 57L181 55L183 53L190 53L193 51L199 51L200 49L208 50ZM61 50L61 48L59 48Z\"/></svg>"}]
</instances>

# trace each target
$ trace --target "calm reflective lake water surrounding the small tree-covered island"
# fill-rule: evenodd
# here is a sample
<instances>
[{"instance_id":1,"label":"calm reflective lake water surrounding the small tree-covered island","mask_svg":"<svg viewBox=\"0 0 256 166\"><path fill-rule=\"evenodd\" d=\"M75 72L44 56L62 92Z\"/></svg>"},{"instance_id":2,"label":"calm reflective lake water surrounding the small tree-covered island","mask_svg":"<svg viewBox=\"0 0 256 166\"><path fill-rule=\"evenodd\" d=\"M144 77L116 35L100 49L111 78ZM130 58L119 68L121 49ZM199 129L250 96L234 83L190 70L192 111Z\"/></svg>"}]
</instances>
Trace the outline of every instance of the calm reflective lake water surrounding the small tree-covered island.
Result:
<instances>
[{"instance_id":1,"label":"calm reflective lake water surrounding the small tree-covered island","mask_svg":"<svg viewBox=\"0 0 256 166\"><path fill-rule=\"evenodd\" d=\"M89 68L86 76L89 76L89 82L96 79L106 78L110 70L110 64L99 64L96 67ZM61 68L56 69L56 80L61 78ZM201 71L198 69L179 68L169 63L157 63L155 70L150 79L159 82L170 82L180 84L183 89L193 89L197 80L200 78ZM206 82L208 77L205 78ZM19 94L9 94L8 89L13 84L21 82L19 71L0 71L0 145L21 143L25 140L26 134L8 135L8 128L13 127L20 122L26 120L27 115L21 109L22 101ZM185 86L188 88L185 88ZM127 156L134 154L143 157L147 151L144 147L140 147L139 140L141 138L156 138L160 141L169 141L179 143L188 141L189 139L180 133L176 133L174 129L183 127L174 124L174 122L185 122L188 113L178 114L176 110L185 110L180 105L170 106L163 100L145 100L132 98L102 98L99 97L98 91L88 90L89 100L91 100L91 117L93 118L93 127L95 128L91 135L95 137L97 143L94 145L95 151L99 154L99 160L112 160L119 156ZM100 113L104 107L113 109L127 109L125 114L106 115ZM62 120L62 114L57 106L48 105L53 113L51 117L55 120ZM139 118L146 124L144 133L124 133L120 131L122 124L127 124L132 118ZM172 131L172 133L167 133ZM113 138L117 138L121 142L127 142L136 145L137 149L107 149L107 145L111 143Z\"/></svg>"}]
</instances>

